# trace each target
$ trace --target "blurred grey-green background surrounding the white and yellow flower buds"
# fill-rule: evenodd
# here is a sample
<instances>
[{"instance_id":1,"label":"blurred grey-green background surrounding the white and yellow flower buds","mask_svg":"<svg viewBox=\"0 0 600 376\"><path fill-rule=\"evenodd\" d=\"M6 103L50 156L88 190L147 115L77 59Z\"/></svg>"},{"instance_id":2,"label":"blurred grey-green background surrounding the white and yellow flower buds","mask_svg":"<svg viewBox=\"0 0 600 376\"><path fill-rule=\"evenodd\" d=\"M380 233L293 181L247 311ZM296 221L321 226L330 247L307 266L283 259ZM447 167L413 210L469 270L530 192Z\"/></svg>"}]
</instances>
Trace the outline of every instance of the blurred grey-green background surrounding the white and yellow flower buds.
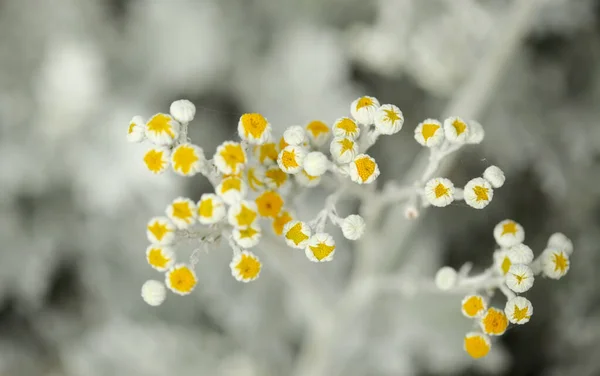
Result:
<instances>
[{"instance_id":1,"label":"blurred grey-green background surrounding the white and yellow flower buds","mask_svg":"<svg viewBox=\"0 0 600 376\"><path fill-rule=\"evenodd\" d=\"M597 0L0 0L0 375L600 375L599 21ZM380 184L416 160L414 127L450 114L486 138L444 173L461 185L496 164L507 176L485 210L393 222L408 235L383 239L402 257L380 272L486 268L506 218L536 254L564 232L571 270L528 292L529 324L473 361L461 296L384 293L311 338L303 284L344 291L357 259L342 239L326 265L265 246L250 284L216 249L191 296L142 301L141 284L160 278L145 262L147 220L210 186L146 171L144 146L126 142L131 117L189 99L191 138L212 155L244 112L281 132L347 116L361 95L406 118L370 152ZM304 371L313 353L321 363Z\"/></svg>"}]
</instances>

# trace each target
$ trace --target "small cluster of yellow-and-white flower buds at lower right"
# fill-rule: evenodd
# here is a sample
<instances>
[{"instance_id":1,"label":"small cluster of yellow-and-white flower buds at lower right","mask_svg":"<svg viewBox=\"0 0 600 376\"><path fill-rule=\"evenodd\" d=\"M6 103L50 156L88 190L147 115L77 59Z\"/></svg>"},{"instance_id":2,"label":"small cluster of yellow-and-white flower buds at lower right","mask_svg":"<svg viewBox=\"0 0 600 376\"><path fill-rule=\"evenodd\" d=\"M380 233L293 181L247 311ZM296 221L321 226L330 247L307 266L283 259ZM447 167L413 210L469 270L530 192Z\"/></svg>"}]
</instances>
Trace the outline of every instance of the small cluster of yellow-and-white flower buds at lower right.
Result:
<instances>
[{"instance_id":1,"label":"small cluster of yellow-and-white flower buds at lower right","mask_svg":"<svg viewBox=\"0 0 600 376\"><path fill-rule=\"evenodd\" d=\"M481 358L491 349L491 336L500 336L510 324L522 325L533 315L533 305L524 296L533 286L535 276L559 279L569 270L572 242L563 234L550 236L546 249L534 257L525 245L525 231L517 222L507 219L496 225L494 238L500 247L494 252L493 266L478 276L457 275L454 269L444 267L436 275L436 284L442 290L465 288L470 291L461 303L464 316L475 320L479 329L467 333L465 351L473 358ZM503 309L488 307L495 289L507 298Z\"/></svg>"}]
</instances>

